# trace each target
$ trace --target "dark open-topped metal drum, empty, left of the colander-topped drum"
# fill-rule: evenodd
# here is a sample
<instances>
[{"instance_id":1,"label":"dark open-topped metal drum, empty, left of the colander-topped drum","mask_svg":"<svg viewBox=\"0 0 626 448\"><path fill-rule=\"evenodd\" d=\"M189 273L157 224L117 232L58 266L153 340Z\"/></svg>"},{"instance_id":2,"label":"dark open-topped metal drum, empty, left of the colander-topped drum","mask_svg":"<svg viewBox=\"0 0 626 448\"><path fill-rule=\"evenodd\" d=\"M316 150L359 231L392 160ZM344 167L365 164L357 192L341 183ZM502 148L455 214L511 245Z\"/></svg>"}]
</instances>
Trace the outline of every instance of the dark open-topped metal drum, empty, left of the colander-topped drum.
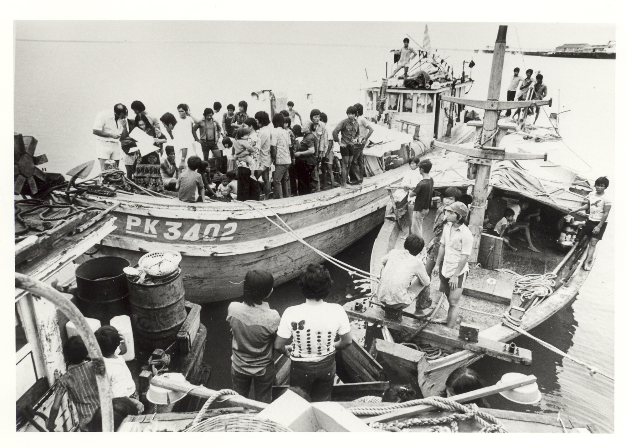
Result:
<instances>
[{"instance_id":1,"label":"dark open-topped metal drum, empty, left of the colander-topped drum","mask_svg":"<svg viewBox=\"0 0 626 448\"><path fill-rule=\"evenodd\" d=\"M126 258L96 257L76 268L77 305L85 317L108 325L112 317L130 314L127 266Z\"/></svg>"}]
</instances>

